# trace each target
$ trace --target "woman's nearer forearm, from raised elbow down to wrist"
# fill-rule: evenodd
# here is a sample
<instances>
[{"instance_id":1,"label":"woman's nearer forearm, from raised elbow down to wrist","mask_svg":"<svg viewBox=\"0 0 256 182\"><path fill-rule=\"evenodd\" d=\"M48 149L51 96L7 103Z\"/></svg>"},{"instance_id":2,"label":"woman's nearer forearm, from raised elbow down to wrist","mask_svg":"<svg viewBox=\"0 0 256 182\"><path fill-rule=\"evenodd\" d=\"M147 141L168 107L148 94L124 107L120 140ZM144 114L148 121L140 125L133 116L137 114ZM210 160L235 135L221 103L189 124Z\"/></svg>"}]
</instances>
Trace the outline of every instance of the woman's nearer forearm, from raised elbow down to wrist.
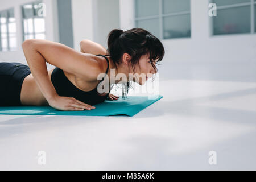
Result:
<instances>
[{"instance_id":1,"label":"woman's nearer forearm, from raised elbow down to wrist","mask_svg":"<svg viewBox=\"0 0 256 182\"><path fill-rule=\"evenodd\" d=\"M49 79L46 59L36 50L36 44L31 41L24 41L22 48L36 84L46 100L51 100L57 95L57 92Z\"/></svg>"}]
</instances>

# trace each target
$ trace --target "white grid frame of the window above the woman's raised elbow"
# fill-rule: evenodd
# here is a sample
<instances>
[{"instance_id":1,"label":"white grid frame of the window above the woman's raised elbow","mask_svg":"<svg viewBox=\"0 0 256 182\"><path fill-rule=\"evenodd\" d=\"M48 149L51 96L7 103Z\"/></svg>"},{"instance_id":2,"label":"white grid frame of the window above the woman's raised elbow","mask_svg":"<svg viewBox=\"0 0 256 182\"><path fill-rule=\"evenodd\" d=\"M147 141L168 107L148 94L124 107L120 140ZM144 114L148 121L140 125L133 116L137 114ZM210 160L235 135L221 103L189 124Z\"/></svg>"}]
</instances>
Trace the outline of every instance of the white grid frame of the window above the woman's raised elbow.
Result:
<instances>
[{"instance_id":1,"label":"white grid frame of the window above the woman's raised elbow","mask_svg":"<svg viewBox=\"0 0 256 182\"><path fill-rule=\"evenodd\" d=\"M23 41L27 40L27 39L25 39L26 35L33 35L32 39L35 39L35 35L36 34L44 34L44 36L46 37L46 30L44 30L44 32L36 32L35 33L35 18L42 18L42 19L44 19L44 26L46 26L46 21L45 21L46 19L45 19L45 17L44 16L42 16L42 17L36 16L35 12L34 12L35 11L34 5L38 5L39 3L43 3L43 1L42 0L32 1L32 2L27 2L27 3L24 3L24 4L20 5L21 17L22 17L22 39L23 39ZM31 5L31 4L32 4L32 7L33 7L33 9L32 9L33 10L33 16L24 18L23 17L23 6ZM24 20L26 20L26 19L32 19L32 24L33 24L33 32L32 33L25 33L24 32Z\"/></svg>"}]
</instances>

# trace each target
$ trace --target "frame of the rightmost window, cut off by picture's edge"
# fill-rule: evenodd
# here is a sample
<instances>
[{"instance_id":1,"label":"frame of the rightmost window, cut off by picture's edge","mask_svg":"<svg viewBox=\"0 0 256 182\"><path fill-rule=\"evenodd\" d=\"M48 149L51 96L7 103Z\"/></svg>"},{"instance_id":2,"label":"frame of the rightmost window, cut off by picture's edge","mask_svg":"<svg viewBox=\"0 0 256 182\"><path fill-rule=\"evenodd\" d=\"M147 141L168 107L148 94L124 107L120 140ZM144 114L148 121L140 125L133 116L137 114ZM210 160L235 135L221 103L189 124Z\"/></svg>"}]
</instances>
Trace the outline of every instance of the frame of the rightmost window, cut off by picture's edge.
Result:
<instances>
[{"instance_id":1,"label":"frame of the rightmost window, cut off by picture's edge","mask_svg":"<svg viewBox=\"0 0 256 182\"><path fill-rule=\"evenodd\" d=\"M209 3L213 3L213 0L209 0ZM211 36L229 36L229 35L246 35L246 34L255 34L256 33L256 28L255 28L255 10L254 7L256 6L256 1L250 0L250 2L242 2L242 3L235 3L232 5L222 5L218 6L217 5L217 16L218 16L218 10L225 10L225 9L232 9L233 7L243 7L243 6L250 6L250 32L237 32L237 33L232 33L232 34L217 34L214 35L214 22L213 18L210 17L210 35Z\"/></svg>"}]
</instances>

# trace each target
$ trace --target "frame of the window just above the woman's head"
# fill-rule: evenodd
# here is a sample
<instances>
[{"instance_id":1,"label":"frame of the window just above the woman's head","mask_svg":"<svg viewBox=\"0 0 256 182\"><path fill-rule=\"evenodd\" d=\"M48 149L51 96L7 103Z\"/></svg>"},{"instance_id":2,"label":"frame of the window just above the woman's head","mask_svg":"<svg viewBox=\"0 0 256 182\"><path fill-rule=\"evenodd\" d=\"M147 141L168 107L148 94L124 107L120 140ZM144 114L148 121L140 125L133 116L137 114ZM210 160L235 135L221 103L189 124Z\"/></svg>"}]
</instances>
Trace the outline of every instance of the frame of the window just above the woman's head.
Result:
<instances>
[{"instance_id":1,"label":"frame of the window just above the woman's head","mask_svg":"<svg viewBox=\"0 0 256 182\"><path fill-rule=\"evenodd\" d=\"M134 18L134 24L135 24L135 27L138 27L137 26L137 22L139 20L150 20L150 19L155 19L155 18L159 18L159 37L160 37L160 40L170 40L170 39L191 39L191 34L190 36L187 36L187 37L179 37L179 38L167 38L167 39L164 39L164 36L163 36L163 31L164 31L164 27L163 27L163 19L166 18L166 17L171 17L171 16L178 16L178 15L187 15L189 14L189 18L191 19L191 2L189 2L189 11L179 11L179 12L175 12L175 13L167 13L167 14L163 14L163 0L158 0L158 3L159 3L159 14L158 15L150 15L150 16L143 16L143 17L136 17L136 11L137 11L137 6L136 6L136 1L137 0L134 0L133 1L133 4L134 4L134 15L133 15L133 18ZM190 31L191 31L191 21L190 21Z\"/></svg>"}]
</instances>

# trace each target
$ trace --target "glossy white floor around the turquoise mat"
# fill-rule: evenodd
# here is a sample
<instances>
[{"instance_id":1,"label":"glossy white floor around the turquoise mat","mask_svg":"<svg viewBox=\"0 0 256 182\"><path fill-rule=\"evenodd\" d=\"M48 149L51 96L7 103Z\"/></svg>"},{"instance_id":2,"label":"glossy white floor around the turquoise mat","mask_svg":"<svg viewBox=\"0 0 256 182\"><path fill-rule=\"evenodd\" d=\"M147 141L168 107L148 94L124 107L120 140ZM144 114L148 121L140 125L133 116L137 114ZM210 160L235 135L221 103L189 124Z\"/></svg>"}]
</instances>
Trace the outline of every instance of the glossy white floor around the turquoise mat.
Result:
<instances>
[{"instance_id":1,"label":"glossy white floor around the turquoise mat","mask_svg":"<svg viewBox=\"0 0 256 182\"><path fill-rule=\"evenodd\" d=\"M162 64L133 117L0 115L0 169L255 170L256 63Z\"/></svg>"}]
</instances>

